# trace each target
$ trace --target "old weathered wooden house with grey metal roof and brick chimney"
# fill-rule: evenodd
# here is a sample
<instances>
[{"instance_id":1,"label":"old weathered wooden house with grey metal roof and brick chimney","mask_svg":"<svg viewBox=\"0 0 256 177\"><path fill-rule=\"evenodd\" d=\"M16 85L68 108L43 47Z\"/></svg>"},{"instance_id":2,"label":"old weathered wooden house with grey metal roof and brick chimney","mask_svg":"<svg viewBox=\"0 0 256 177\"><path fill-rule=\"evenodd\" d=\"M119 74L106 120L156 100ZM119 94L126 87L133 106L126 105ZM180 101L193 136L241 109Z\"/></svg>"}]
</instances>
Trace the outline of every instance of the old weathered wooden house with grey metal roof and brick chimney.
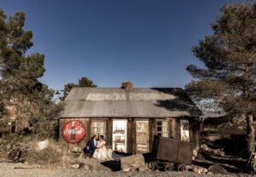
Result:
<instances>
[{"instance_id":1,"label":"old weathered wooden house with grey metal roof and brick chimney","mask_svg":"<svg viewBox=\"0 0 256 177\"><path fill-rule=\"evenodd\" d=\"M84 147L94 134L131 154L151 151L155 134L199 148L201 111L182 88L73 88L65 102L59 140L67 150Z\"/></svg>"}]
</instances>

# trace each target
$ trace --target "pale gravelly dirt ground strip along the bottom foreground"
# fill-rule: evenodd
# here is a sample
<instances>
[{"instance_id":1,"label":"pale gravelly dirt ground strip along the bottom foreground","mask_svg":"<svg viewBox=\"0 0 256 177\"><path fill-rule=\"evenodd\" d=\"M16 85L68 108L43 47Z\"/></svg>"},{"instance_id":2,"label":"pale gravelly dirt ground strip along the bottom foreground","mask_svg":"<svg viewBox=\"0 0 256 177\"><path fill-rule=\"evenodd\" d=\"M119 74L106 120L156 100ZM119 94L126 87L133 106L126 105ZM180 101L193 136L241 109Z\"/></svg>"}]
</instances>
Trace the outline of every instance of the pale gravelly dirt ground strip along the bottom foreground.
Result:
<instances>
[{"instance_id":1,"label":"pale gravelly dirt ground strip along the bottom foreground","mask_svg":"<svg viewBox=\"0 0 256 177\"><path fill-rule=\"evenodd\" d=\"M189 176L252 176L249 174L195 174L193 172L108 172L93 171L73 168L21 168L21 163L0 163L0 176L3 177L79 177L79 176L139 176L139 177L157 177L157 176L173 176L173 177L189 177Z\"/></svg>"}]
</instances>

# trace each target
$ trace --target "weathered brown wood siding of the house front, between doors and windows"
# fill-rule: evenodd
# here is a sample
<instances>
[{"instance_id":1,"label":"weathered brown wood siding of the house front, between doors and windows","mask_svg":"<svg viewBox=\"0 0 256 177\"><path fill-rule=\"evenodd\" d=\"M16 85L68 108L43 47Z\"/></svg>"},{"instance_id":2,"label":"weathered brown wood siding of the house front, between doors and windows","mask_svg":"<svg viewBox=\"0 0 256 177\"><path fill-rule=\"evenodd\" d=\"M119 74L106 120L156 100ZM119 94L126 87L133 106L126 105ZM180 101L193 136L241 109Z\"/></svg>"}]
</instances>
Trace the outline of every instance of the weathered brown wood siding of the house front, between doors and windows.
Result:
<instances>
[{"instance_id":1,"label":"weathered brown wood siding of the house front, between doors and windows","mask_svg":"<svg viewBox=\"0 0 256 177\"><path fill-rule=\"evenodd\" d=\"M116 118L115 118L116 119ZM124 118L122 118L124 119ZM195 149L198 149L200 146L200 123L197 119L189 119L189 142L195 144ZM81 123L84 124L85 128L85 136L84 139L81 140L79 143L71 144L67 143L66 140L62 138L61 130L64 123L67 123L70 120L79 120ZM108 148L113 149L113 118L112 117L102 117L102 118L60 118L59 119L59 143L63 145L63 147L68 151L72 150L74 146L80 146L84 148L87 142L90 140L90 123L91 121L105 121L106 123L106 134L105 140L107 142ZM149 142L149 151L152 150L154 135L156 134L156 118L127 118L127 136L126 136L126 152L129 154L136 154L137 153L137 120L148 120L148 142ZM170 137L176 140L181 140L181 129L180 129L180 119L177 117L169 117L166 119L169 121L169 131Z\"/></svg>"}]
</instances>

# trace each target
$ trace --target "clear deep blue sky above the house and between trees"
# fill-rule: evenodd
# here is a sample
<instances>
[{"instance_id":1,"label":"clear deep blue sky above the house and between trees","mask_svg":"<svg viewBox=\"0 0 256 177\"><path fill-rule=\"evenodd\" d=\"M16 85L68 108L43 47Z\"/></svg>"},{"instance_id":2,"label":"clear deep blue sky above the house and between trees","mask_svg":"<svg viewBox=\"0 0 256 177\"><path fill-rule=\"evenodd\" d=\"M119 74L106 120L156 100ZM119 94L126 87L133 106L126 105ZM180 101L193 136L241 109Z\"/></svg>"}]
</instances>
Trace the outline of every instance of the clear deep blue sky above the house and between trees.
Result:
<instances>
[{"instance_id":1,"label":"clear deep blue sky above the house and between trees","mask_svg":"<svg viewBox=\"0 0 256 177\"><path fill-rule=\"evenodd\" d=\"M225 0L0 0L26 12L29 53L45 54L40 81L61 89L89 77L99 87L182 87L191 47L207 34Z\"/></svg>"}]
</instances>

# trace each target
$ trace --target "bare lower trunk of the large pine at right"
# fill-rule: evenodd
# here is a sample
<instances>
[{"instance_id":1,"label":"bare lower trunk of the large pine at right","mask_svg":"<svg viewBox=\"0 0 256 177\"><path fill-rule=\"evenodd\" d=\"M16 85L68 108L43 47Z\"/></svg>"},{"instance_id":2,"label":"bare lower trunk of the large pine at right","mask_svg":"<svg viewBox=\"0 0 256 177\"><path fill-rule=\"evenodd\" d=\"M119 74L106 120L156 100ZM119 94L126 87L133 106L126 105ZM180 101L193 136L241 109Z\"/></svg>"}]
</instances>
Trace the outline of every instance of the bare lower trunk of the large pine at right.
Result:
<instances>
[{"instance_id":1,"label":"bare lower trunk of the large pine at right","mask_svg":"<svg viewBox=\"0 0 256 177\"><path fill-rule=\"evenodd\" d=\"M253 151L255 128L253 127L253 114L247 115L247 154Z\"/></svg>"}]
</instances>

